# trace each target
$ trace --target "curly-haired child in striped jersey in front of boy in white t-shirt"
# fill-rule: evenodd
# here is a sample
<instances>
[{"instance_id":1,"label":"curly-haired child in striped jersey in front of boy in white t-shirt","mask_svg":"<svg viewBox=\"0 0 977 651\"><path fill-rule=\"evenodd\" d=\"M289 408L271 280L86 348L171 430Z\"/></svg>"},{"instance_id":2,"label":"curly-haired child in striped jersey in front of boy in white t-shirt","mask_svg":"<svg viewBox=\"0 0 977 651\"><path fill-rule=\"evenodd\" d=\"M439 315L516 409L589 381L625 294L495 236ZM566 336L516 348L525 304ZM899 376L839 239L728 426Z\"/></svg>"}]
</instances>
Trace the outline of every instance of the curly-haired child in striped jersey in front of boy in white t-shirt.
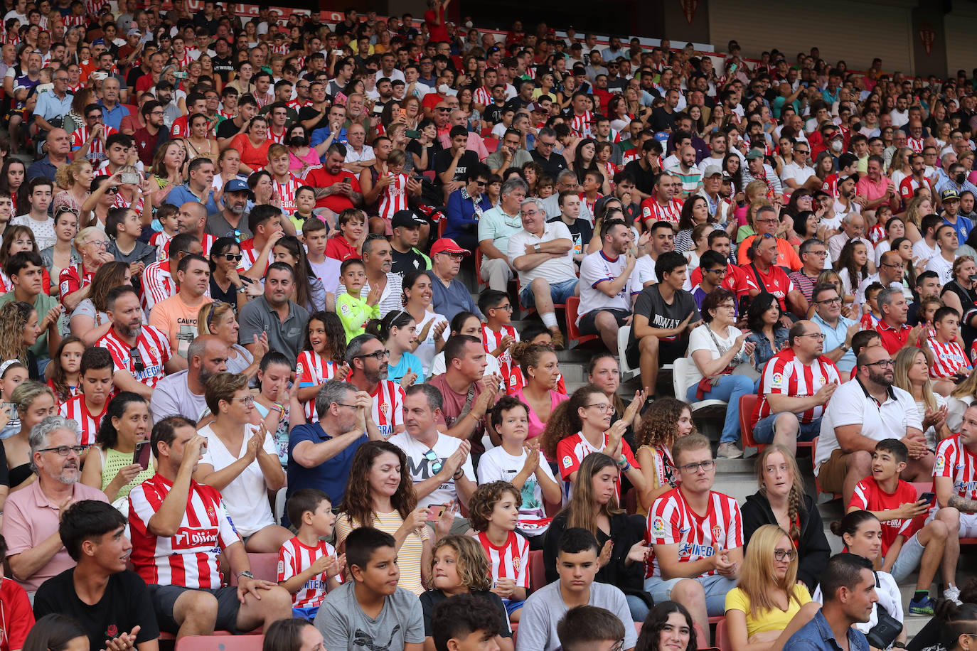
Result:
<instances>
[{"instance_id":1,"label":"curly-haired child in striped jersey in front of boy in white t-shirt","mask_svg":"<svg viewBox=\"0 0 977 651\"><path fill-rule=\"evenodd\" d=\"M509 619L519 621L530 587L530 544L516 533L523 497L508 481L479 486L468 501L468 521L491 564L491 591L502 598Z\"/></svg>"}]
</instances>

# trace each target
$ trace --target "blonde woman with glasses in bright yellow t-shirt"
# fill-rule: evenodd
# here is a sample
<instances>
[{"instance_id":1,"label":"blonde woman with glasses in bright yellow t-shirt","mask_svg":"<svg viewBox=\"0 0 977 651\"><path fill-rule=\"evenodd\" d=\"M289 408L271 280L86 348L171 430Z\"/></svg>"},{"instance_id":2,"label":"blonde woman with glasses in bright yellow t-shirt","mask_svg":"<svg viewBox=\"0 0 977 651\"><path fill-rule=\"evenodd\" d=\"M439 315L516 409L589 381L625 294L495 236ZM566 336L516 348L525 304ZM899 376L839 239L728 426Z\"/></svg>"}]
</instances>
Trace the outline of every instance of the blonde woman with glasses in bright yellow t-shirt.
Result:
<instances>
[{"instance_id":1,"label":"blonde woman with glasses in bright yellow t-shirt","mask_svg":"<svg viewBox=\"0 0 977 651\"><path fill-rule=\"evenodd\" d=\"M797 549L784 529L765 524L743 556L740 583L726 594L732 651L780 651L821 604L797 582Z\"/></svg>"}]
</instances>

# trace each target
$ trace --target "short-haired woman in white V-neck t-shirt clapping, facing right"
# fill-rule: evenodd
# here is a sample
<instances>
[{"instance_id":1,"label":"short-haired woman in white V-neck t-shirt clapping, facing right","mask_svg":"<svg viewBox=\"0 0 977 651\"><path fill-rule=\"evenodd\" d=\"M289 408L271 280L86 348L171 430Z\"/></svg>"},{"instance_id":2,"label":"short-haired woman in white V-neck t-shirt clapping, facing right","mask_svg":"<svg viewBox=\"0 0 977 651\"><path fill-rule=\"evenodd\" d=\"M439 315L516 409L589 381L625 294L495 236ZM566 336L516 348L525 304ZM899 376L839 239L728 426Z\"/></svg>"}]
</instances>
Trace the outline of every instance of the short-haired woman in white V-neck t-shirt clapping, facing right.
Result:
<instances>
[{"instance_id":1,"label":"short-haired woman in white V-neck t-shirt clapping, facing right","mask_svg":"<svg viewBox=\"0 0 977 651\"><path fill-rule=\"evenodd\" d=\"M272 553L292 537L275 523L268 501L269 490L285 485L285 472L272 432L254 425L254 395L247 385L247 378L233 373L218 373L205 383L214 418L198 430L207 447L193 479L221 492L244 549Z\"/></svg>"}]
</instances>

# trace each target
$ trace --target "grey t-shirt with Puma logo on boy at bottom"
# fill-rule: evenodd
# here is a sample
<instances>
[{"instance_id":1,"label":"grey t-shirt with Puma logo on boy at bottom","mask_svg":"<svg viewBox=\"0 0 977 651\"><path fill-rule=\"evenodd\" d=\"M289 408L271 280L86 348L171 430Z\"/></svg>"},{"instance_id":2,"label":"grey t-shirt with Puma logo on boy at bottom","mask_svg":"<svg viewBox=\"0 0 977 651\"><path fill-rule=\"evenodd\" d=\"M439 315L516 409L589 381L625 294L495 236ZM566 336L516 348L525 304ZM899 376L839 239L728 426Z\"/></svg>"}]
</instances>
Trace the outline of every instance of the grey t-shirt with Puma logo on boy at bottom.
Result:
<instances>
[{"instance_id":1,"label":"grey t-shirt with Puma logo on boy at bottom","mask_svg":"<svg viewBox=\"0 0 977 651\"><path fill-rule=\"evenodd\" d=\"M424 643L421 602L413 592L398 588L387 597L383 610L373 619L363 613L355 587L353 581L344 583L326 594L319 607L316 628L322 633L325 648L329 651L402 651L404 644ZM556 624L553 626L555 630ZM633 627L631 631L634 631Z\"/></svg>"}]
</instances>

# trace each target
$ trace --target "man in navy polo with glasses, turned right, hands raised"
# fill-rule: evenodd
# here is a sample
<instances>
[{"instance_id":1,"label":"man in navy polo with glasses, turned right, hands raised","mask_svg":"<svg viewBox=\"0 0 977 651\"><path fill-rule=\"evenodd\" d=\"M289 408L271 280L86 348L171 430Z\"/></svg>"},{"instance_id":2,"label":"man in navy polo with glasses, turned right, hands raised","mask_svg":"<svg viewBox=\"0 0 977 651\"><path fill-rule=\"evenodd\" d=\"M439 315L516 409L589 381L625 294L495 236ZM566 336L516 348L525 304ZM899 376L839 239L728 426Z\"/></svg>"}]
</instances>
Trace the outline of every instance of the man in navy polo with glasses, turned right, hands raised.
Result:
<instances>
[{"instance_id":1,"label":"man in navy polo with glasses, turned right, hands raised","mask_svg":"<svg viewBox=\"0 0 977 651\"><path fill-rule=\"evenodd\" d=\"M370 440L382 440L379 429L369 431L369 417L373 398L347 382L330 381L319 387L316 394L316 413L319 421L297 425L288 436L288 492L302 488L317 488L337 503L346 493L350 464L360 446ZM294 396L292 413L304 411L304 405ZM282 522L288 525L287 514Z\"/></svg>"}]
</instances>

